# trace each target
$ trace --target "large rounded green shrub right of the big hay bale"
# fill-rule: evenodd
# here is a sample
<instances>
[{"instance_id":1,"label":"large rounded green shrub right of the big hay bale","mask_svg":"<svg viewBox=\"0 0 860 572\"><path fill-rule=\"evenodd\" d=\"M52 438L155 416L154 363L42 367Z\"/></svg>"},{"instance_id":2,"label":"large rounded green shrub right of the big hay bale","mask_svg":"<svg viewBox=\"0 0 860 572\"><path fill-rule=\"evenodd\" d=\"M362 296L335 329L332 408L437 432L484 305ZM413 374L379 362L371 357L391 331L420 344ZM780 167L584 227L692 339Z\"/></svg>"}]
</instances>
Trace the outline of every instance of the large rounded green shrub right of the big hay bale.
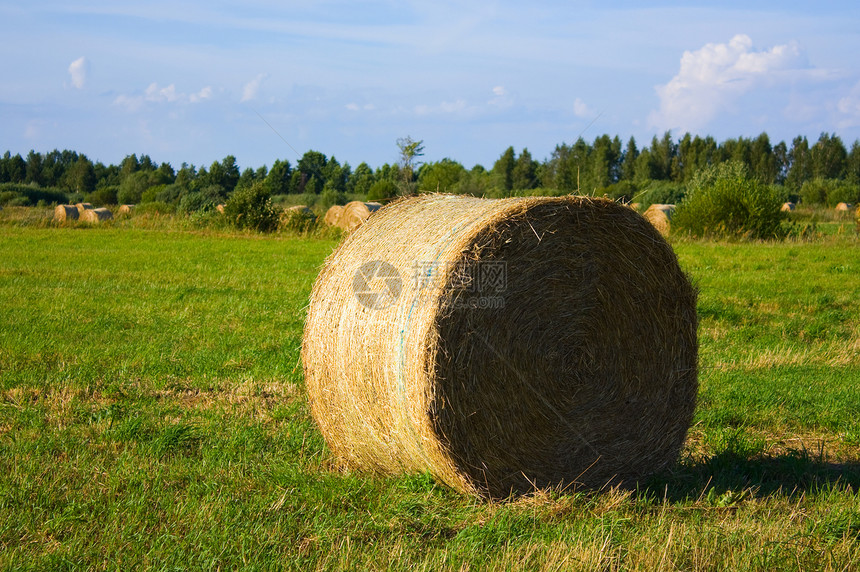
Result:
<instances>
[{"instance_id":1,"label":"large rounded green shrub right of the big hay bale","mask_svg":"<svg viewBox=\"0 0 860 572\"><path fill-rule=\"evenodd\" d=\"M783 238L785 213L778 188L750 177L739 163L720 164L694 177L672 218L675 232L692 236Z\"/></svg>"}]
</instances>

